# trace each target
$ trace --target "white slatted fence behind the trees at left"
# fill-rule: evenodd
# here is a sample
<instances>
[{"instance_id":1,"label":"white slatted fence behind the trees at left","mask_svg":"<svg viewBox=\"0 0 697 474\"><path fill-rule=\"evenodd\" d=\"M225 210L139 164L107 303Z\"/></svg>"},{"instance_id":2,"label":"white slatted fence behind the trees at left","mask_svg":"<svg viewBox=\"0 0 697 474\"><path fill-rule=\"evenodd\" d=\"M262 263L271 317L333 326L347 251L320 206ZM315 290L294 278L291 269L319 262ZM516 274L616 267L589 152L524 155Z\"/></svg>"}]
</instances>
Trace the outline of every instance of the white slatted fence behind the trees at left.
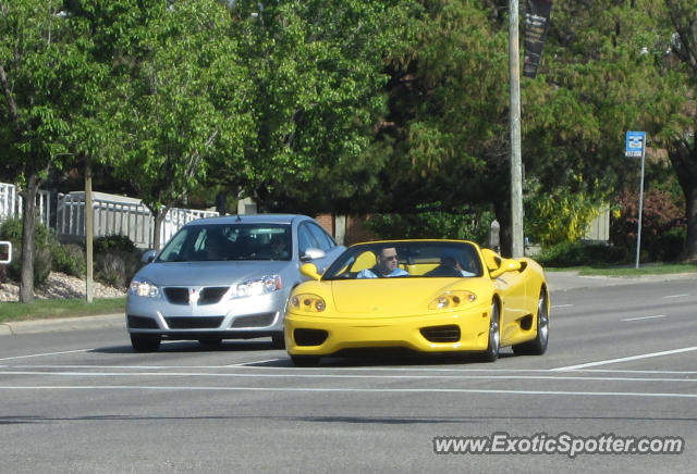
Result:
<instances>
[{"instance_id":1,"label":"white slatted fence behind the trees at left","mask_svg":"<svg viewBox=\"0 0 697 474\"><path fill-rule=\"evenodd\" d=\"M51 202L48 191L40 191L37 208L40 222L54 232L61 241L85 239L85 192L73 191L59 195L51 219ZM12 185L0 183L0 222L22 215L21 198ZM167 213L160 229L160 242L164 244L184 224L199 217L218 215L215 211L172 208ZM93 228L95 237L109 235L127 236L137 247L152 248L155 219L139 199L124 196L93 192Z\"/></svg>"}]
</instances>

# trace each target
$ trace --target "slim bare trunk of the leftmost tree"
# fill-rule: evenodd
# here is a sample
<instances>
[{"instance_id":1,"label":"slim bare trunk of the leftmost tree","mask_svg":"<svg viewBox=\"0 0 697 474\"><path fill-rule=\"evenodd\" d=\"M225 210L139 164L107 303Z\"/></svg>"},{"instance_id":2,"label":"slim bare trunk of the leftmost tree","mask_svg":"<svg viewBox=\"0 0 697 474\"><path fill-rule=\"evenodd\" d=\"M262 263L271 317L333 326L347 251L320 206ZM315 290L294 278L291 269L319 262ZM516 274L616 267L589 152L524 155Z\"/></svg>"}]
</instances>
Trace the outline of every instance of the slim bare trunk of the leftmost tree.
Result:
<instances>
[{"instance_id":1,"label":"slim bare trunk of the leftmost tree","mask_svg":"<svg viewBox=\"0 0 697 474\"><path fill-rule=\"evenodd\" d=\"M39 178L29 175L27 189L22 197L22 273L20 282L20 302L34 301L34 233L36 230L36 195L39 190Z\"/></svg>"}]
</instances>

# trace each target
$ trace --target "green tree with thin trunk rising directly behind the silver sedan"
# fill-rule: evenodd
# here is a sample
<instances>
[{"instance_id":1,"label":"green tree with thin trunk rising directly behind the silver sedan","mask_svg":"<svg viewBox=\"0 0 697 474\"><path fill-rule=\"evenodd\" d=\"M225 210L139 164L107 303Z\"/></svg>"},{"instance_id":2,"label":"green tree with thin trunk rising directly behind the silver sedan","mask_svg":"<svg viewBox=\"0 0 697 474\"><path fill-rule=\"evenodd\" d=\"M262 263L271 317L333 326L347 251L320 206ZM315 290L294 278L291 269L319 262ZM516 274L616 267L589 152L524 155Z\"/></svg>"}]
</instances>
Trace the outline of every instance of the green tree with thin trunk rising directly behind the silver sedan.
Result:
<instances>
[{"instance_id":1,"label":"green tree with thin trunk rising directly behind the silver sedan","mask_svg":"<svg viewBox=\"0 0 697 474\"><path fill-rule=\"evenodd\" d=\"M127 41L118 51L124 64L118 67L114 120L123 154L112 164L155 215L159 248L167 212L206 176L208 160L240 163L253 123L253 85L224 5L136 3L138 21L123 33Z\"/></svg>"}]
</instances>

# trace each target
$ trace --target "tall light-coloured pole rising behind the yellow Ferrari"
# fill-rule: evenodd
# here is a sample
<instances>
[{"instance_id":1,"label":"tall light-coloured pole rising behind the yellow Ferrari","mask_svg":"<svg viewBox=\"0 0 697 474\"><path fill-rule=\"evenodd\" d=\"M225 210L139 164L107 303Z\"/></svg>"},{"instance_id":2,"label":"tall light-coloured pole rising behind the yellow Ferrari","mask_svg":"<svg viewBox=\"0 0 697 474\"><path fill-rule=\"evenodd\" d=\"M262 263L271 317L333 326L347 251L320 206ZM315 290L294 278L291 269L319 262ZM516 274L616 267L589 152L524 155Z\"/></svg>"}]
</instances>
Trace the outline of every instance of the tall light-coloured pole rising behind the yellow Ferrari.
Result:
<instances>
[{"instance_id":1,"label":"tall light-coloured pole rising behind the yellow Ferrari","mask_svg":"<svg viewBox=\"0 0 697 474\"><path fill-rule=\"evenodd\" d=\"M511 234L512 255L523 257L523 160L521 157L521 60L518 0L509 0L509 74L511 77Z\"/></svg>"}]
</instances>

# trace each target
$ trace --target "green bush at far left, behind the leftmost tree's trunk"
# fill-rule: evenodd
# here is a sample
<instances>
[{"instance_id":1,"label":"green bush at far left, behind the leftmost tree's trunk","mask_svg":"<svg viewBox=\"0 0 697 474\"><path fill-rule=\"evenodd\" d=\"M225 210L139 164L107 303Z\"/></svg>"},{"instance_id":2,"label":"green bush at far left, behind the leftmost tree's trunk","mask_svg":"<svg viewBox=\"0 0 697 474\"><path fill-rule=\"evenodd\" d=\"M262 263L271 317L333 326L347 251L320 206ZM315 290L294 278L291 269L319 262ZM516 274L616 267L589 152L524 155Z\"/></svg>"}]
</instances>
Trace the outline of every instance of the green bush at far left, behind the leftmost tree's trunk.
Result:
<instances>
[{"instance_id":1,"label":"green bush at far left, behind the leftmost tree's trunk","mask_svg":"<svg viewBox=\"0 0 697 474\"><path fill-rule=\"evenodd\" d=\"M22 278L22 220L8 219L0 224L0 240L12 242L12 262L8 265L8 276L12 279ZM34 285L46 283L51 273L51 247L56 246L53 237L48 228L37 223L34 232Z\"/></svg>"}]
</instances>

